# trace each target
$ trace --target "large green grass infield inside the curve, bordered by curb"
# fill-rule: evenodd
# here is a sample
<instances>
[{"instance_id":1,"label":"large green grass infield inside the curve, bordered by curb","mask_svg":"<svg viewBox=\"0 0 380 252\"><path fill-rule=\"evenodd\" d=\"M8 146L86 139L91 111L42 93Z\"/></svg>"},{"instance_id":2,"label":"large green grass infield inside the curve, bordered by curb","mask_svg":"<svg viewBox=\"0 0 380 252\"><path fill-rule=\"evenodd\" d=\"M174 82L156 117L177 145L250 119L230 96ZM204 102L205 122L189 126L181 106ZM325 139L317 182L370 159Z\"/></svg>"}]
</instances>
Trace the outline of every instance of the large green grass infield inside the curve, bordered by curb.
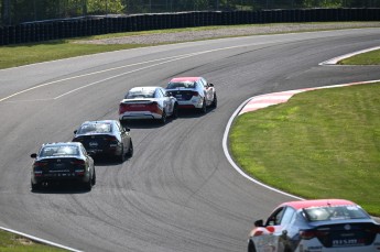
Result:
<instances>
[{"instance_id":1,"label":"large green grass infield inside the curve, bordered by curb","mask_svg":"<svg viewBox=\"0 0 380 252\"><path fill-rule=\"evenodd\" d=\"M238 117L231 154L303 198L345 198L380 216L380 83L298 94Z\"/></svg>"}]
</instances>

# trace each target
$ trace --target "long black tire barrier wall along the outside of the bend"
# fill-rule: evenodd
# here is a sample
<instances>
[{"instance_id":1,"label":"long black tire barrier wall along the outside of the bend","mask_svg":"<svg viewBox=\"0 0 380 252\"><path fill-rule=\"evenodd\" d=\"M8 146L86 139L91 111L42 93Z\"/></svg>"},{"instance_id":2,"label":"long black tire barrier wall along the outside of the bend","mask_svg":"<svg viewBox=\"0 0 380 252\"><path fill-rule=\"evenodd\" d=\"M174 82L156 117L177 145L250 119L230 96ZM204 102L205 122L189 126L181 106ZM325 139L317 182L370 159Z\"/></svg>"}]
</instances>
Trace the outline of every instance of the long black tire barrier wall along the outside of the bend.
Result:
<instances>
[{"instance_id":1,"label":"long black tire barrier wall along the outside of the bend","mask_svg":"<svg viewBox=\"0 0 380 252\"><path fill-rule=\"evenodd\" d=\"M83 17L0 26L0 45L36 43L118 32L284 22L380 21L380 8L202 11Z\"/></svg>"}]
</instances>

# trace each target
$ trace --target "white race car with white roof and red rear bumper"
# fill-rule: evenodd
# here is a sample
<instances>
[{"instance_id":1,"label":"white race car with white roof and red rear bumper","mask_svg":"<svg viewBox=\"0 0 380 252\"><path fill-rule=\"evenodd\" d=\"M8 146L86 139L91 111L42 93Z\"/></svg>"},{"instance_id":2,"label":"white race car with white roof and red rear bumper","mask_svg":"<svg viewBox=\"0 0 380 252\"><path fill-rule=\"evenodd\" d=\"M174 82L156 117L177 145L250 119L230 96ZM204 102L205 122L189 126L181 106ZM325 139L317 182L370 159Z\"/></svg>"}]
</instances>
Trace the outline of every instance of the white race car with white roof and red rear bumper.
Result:
<instances>
[{"instance_id":1,"label":"white race car with white roof and red rear bumper","mask_svg":"<svg viewBox=\"0 0 380 252\"><path fill-rule=\"evenodd\" d=\"M177 100L162 87L134 87L119 105L119 120L155 119L162 123L178 116Z\"/></svg>"}]
</instances>

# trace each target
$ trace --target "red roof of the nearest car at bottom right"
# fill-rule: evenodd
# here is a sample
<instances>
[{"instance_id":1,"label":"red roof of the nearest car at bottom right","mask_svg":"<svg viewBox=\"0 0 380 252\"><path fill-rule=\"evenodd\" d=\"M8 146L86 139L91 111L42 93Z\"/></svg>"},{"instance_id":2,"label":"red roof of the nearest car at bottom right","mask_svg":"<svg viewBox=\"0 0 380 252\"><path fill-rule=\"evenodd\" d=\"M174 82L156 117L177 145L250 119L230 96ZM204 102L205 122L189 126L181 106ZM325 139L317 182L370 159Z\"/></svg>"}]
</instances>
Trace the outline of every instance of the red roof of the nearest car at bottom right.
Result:
<instances>
[{"instance_id":1,"label":"red roof of the nearest car at bottom right","mask_svg":"<svg viewBox=\"0 0 380 252\"><path fill-rule=\"evenodd\" d=\"M357 206L357 204L346 199L311 199L311 200L296 200L281 204L279 207L290 206L294 209L304 209L310 207L328 207L328 206Z\"/></svg>"}]
</instances>

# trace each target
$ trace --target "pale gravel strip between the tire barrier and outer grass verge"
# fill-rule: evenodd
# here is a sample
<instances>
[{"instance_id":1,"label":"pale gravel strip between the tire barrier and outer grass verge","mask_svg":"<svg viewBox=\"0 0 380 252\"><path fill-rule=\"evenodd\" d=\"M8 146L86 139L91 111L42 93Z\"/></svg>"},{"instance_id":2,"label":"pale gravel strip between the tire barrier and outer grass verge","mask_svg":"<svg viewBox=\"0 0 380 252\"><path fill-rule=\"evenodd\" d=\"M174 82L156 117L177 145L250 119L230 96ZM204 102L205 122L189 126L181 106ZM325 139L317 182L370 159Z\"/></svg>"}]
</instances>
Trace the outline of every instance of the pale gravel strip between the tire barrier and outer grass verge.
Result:
<instances>
[{"instance_id":1,"label":"pale gravel strip between the tire barrier and outer grass verge","mask_svg":"<svg viewBox=\"0 0 380 252\"><path fill-rule=\"evenodd\" d=\"M210 29L188 28L180 32L169 30L167 33L145 33L138 35L116 36L109 39L82 40L76 43L80 44L144 44L155 45L165 43L178 43L188 41L200 41L209 39L219 39L228 36L249 36L260 34L276 34L307 31L326 31L340 29L357 28L380 28L380 22L337 22L337 23L276 23L276 24L252 24L252 25L234 25L211 26ZM135 34L135 33L134 33Z\"/></svg>"}]
</instances>

